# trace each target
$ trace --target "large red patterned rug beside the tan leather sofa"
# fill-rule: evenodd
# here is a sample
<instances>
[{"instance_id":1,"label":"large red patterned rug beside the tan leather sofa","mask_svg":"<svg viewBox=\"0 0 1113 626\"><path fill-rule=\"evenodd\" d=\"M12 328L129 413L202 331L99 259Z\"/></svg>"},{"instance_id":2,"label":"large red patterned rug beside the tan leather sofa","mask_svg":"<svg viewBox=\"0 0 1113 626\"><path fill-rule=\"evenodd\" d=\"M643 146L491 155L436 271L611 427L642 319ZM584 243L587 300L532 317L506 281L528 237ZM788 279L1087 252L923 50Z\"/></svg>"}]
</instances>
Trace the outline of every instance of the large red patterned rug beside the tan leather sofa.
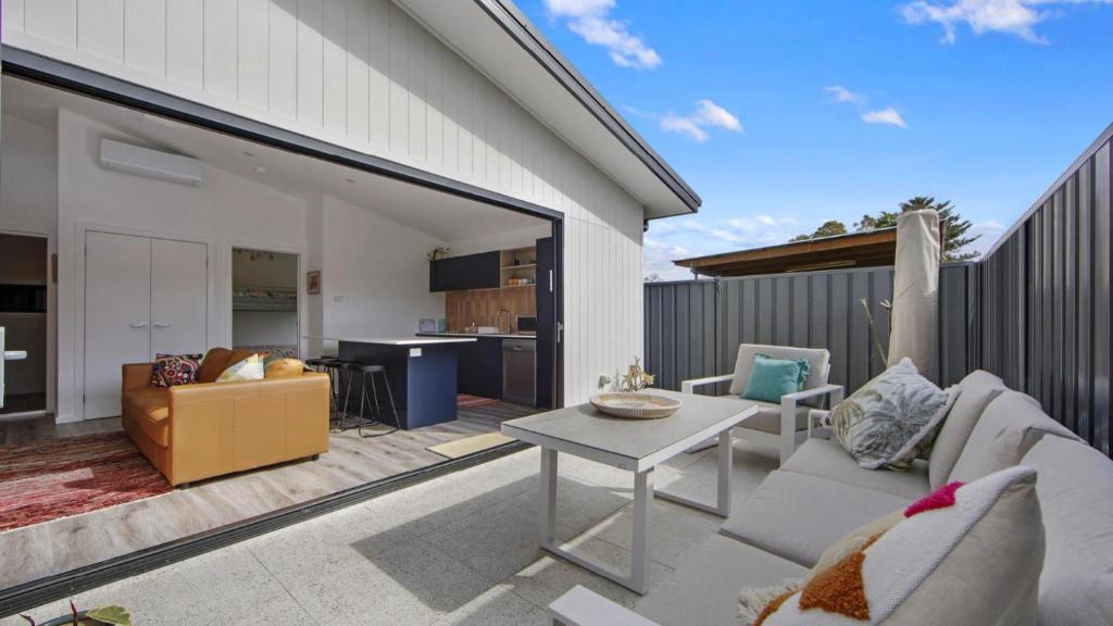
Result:
<instances>
[{"instance_id":1,"label":"large red patterned rug beside the tan leather sofa","mask_svg":"<svg viewBox=\"0 0 1113 626\"><path fill-rule=\"evenodd\" d=\"M173 490L125 432L0 447L0 531Z\"/></svg>"}]
</instances>

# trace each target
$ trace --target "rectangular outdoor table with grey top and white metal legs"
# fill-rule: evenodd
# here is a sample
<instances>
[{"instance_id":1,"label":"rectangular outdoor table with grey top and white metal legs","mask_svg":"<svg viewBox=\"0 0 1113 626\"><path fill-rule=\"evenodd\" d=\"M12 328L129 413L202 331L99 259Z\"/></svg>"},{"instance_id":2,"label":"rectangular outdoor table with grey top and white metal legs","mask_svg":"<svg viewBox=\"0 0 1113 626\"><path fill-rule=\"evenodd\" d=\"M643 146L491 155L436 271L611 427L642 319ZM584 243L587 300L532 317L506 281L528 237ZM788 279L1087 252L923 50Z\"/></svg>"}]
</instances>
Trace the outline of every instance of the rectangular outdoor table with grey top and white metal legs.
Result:
<instances>
[{"instance_id":1,"label":"rectangular outdoor table with grey top and white metal legs","mask_svg":"<svg viewBox=\"0 0 1113 626\"><path fill-rule=\"evenodd\" d=\"M541 547L561 558L644 594L652 563L651 503L654 496L720 517L730 513L732 448L730 429L757 414L757 404L737 398L710 398L673 391L683 407L659 420L628 420L600 413L590 403L502 423L502 432L541 448ZM653 490L653 469L691 446L719 437L719 485L715 503ZM572 554L556 540L556 453L564 452L633 472L633 548L629 576Z\"/></svg>"}]
</instances>

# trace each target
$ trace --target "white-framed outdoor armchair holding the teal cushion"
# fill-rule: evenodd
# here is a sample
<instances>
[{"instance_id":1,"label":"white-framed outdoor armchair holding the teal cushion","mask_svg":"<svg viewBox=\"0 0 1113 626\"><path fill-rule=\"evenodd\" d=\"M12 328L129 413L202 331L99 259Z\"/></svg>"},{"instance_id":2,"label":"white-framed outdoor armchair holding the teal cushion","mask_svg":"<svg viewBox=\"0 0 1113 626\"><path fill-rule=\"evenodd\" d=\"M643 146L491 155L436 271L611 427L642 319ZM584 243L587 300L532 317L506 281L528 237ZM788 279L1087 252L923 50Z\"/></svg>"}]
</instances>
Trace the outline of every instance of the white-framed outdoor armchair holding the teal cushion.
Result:
<instances>
[{"instance_id":1,"label":"white-framed outdoor armchair holding the teal cushion","mask_svg":"<svg viewBox=\"0 0 1113 626\"><path fill-rule=\"evenodd\" d=\"M758 354L772 359L805 359L808 362L808 381L801 391L782 395L779 404L758 402L760 407L758 414L735 429L735 436L740 439L776 448L780 452L780 462L785 463L796 451L797 446L810 436L812 421L808 413L811 409L820 408L824 397L830 398L830 407L843 401L843 387L827 383L831 369L830 352L821 348L743 343L738 346L735 373L682 381L680 390L684 393L696 393L697 388L729 382L731 395L740 395L750 380L754 356Z\"/></svg>"}]
</instances>

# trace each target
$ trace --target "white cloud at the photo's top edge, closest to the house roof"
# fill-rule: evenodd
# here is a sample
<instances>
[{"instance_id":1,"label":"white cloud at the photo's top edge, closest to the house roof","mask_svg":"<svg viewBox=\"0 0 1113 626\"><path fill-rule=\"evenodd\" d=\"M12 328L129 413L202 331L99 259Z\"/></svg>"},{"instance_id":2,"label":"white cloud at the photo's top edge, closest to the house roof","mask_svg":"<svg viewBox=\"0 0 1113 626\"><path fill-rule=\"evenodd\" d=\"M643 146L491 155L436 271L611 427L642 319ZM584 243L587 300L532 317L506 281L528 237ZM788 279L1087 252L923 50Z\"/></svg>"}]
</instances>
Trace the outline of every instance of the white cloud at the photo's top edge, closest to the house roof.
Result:
<instances>
[{"instance_id":1,"label":"white cloud at the photo's top edge, closest to the house roof","mask_svg":"<svg viewBox=\"0 0 1113 626\"><path fill-rule=\"evenodd\" d=\"M614 65L636 69L653 69L661 57L637 35L627 30L626 22L611 19L614 0L545 0L545 10L555 18L568 19L568 28L592 46L607 50Z\"/></svg>"}]
</instances>

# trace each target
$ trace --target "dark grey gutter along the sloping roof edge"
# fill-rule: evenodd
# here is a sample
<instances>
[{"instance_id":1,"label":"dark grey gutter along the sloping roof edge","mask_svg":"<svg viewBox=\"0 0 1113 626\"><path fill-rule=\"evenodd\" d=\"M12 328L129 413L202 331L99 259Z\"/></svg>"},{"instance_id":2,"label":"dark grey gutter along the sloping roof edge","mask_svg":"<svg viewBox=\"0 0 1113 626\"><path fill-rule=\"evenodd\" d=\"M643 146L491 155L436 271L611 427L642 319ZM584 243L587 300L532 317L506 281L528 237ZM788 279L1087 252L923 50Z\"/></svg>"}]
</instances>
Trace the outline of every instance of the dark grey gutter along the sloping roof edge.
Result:
<instances>
[{"instance_id":1,"label":"dark grey gutter along the sloping roof edge","mask_svg":"<svg viewBox=\"0 0 1113 626\"><path fill-rule=\"evenodd\" d=\"M510 0L473 0L514 41L530 53L560 82L592 116L595 117L630 153L642 162L678 198L690 213L697 213L703 200L688 186L668 163L661 158L638 133L631 128L536 29ZM670 216L671 217L671 216ZM657 219L656 217L652 219Z\"/></svg>"}]
</instances>

